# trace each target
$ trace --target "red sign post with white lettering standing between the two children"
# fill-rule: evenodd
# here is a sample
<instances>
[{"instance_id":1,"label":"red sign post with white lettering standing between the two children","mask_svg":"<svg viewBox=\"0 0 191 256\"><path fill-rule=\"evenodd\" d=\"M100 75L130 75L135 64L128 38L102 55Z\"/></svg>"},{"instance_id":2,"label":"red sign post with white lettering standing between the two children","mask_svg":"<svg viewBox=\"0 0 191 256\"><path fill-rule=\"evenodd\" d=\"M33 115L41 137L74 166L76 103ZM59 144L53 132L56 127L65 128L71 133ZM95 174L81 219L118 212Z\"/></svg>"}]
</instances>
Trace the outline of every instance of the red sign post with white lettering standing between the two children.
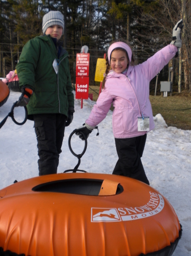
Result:
<instances>
[{"instance_id":1,"label":"red sign post with white lettering standing between the two children","mask_svg":"<svg viewBox=\"0 0 191 256\"><path fill-rule=\"evenodd\" d=\"M83 99L88 99L89 66L90 53L77 53L75 98L81 99L81 109Z\"/></svg>"}]
</instances>

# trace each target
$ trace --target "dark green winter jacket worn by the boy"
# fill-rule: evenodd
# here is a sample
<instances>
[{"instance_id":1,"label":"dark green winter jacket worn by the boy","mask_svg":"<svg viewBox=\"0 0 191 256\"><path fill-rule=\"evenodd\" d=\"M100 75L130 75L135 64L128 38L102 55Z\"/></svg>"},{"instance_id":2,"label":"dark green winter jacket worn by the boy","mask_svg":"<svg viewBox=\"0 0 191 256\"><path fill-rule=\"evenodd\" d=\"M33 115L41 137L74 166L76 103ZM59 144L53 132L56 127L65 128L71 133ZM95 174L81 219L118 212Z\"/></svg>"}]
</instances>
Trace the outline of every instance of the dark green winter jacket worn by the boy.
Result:
<instances>
[{"instance_id":1,"label":"dark green winter jacket worn by the boy","mask_svg":"<svg viewBox=\"0 0 191 256\"><path fill-rule=\"evenodd\" d=\"M28 118L33 114L61 113L66 115L74 109L74 94L71 86L68 53L62 48L60 59L50 35L37 36L23 47L16 65L20 87L33 90L27 105ZM58 73L53 61L58 62Z\"/></svg>"}]
</instances>

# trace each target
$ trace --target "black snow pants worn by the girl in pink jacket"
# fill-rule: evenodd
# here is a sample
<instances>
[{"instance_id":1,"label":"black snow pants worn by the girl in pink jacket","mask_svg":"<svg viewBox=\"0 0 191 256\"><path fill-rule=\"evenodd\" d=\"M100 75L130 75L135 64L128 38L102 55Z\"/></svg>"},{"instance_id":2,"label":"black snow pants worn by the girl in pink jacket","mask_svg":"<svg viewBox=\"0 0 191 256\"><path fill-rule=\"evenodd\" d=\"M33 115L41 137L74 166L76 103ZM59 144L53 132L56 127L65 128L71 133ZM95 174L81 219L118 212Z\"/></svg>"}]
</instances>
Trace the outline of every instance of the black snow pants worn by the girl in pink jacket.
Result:
<instances>
[{"instance_id":1,"label":"black snow pants worn by the girl in pink jacket","mask_svg":"<svg viewBox=\"0 0 191 256\"><path fill-rule=\"evenodd\" d=\"M118 161L113 174L131 177L150 184L141 162L146 138L147 134L134 138L115 138Z\"/></svg>"}]
</instances>

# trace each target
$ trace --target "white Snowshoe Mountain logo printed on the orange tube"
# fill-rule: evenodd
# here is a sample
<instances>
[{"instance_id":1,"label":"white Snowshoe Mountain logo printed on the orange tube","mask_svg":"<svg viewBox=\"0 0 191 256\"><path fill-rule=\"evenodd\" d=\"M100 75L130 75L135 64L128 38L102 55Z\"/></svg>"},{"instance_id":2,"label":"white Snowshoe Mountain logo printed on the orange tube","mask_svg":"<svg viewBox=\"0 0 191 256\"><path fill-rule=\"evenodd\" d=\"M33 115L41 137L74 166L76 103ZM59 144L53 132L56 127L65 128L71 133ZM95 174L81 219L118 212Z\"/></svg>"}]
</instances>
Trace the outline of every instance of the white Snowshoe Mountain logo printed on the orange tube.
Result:
<instances>
[{"instance_id":1,"label":"white Snowshoe Mountain logo printed on the orange tube","mask_svg":"<svg viewBox=\"0 0 191 256\"><path fill-rule=\"evenodd\" d=\"M132 221L147 218L160 213L164 208L162 195L150 193L150 200L145 205L124 208L91 208L91 222Z\"/></svg>"}]
</instances>

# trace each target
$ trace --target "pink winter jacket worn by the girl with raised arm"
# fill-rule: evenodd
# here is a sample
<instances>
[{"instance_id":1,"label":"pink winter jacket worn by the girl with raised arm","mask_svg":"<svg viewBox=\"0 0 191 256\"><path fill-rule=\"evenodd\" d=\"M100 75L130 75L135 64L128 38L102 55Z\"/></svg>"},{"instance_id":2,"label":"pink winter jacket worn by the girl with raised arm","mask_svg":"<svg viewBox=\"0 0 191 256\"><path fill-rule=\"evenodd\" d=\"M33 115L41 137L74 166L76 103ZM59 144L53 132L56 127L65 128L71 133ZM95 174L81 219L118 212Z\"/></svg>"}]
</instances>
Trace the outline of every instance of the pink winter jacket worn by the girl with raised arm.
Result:
<instances>
[{"instance_id":1,"label":"pink winter jacket worn by the girl with raised arm","mask_svg":"<svg viewBox=\"0 0 191 256\"><path fill-rule=\"evenodd\" d=\"M150 118L150 130L154 129L149 84L176 52L177 47L169 44L142 64L130 66L126 75L110 71L106 77L105 88L86 123L90 126L98 125L113 103L114 138L132 138L146 134L146 131L138 131L138 117L142 114Z\"/></svg>"}]
</instances>

